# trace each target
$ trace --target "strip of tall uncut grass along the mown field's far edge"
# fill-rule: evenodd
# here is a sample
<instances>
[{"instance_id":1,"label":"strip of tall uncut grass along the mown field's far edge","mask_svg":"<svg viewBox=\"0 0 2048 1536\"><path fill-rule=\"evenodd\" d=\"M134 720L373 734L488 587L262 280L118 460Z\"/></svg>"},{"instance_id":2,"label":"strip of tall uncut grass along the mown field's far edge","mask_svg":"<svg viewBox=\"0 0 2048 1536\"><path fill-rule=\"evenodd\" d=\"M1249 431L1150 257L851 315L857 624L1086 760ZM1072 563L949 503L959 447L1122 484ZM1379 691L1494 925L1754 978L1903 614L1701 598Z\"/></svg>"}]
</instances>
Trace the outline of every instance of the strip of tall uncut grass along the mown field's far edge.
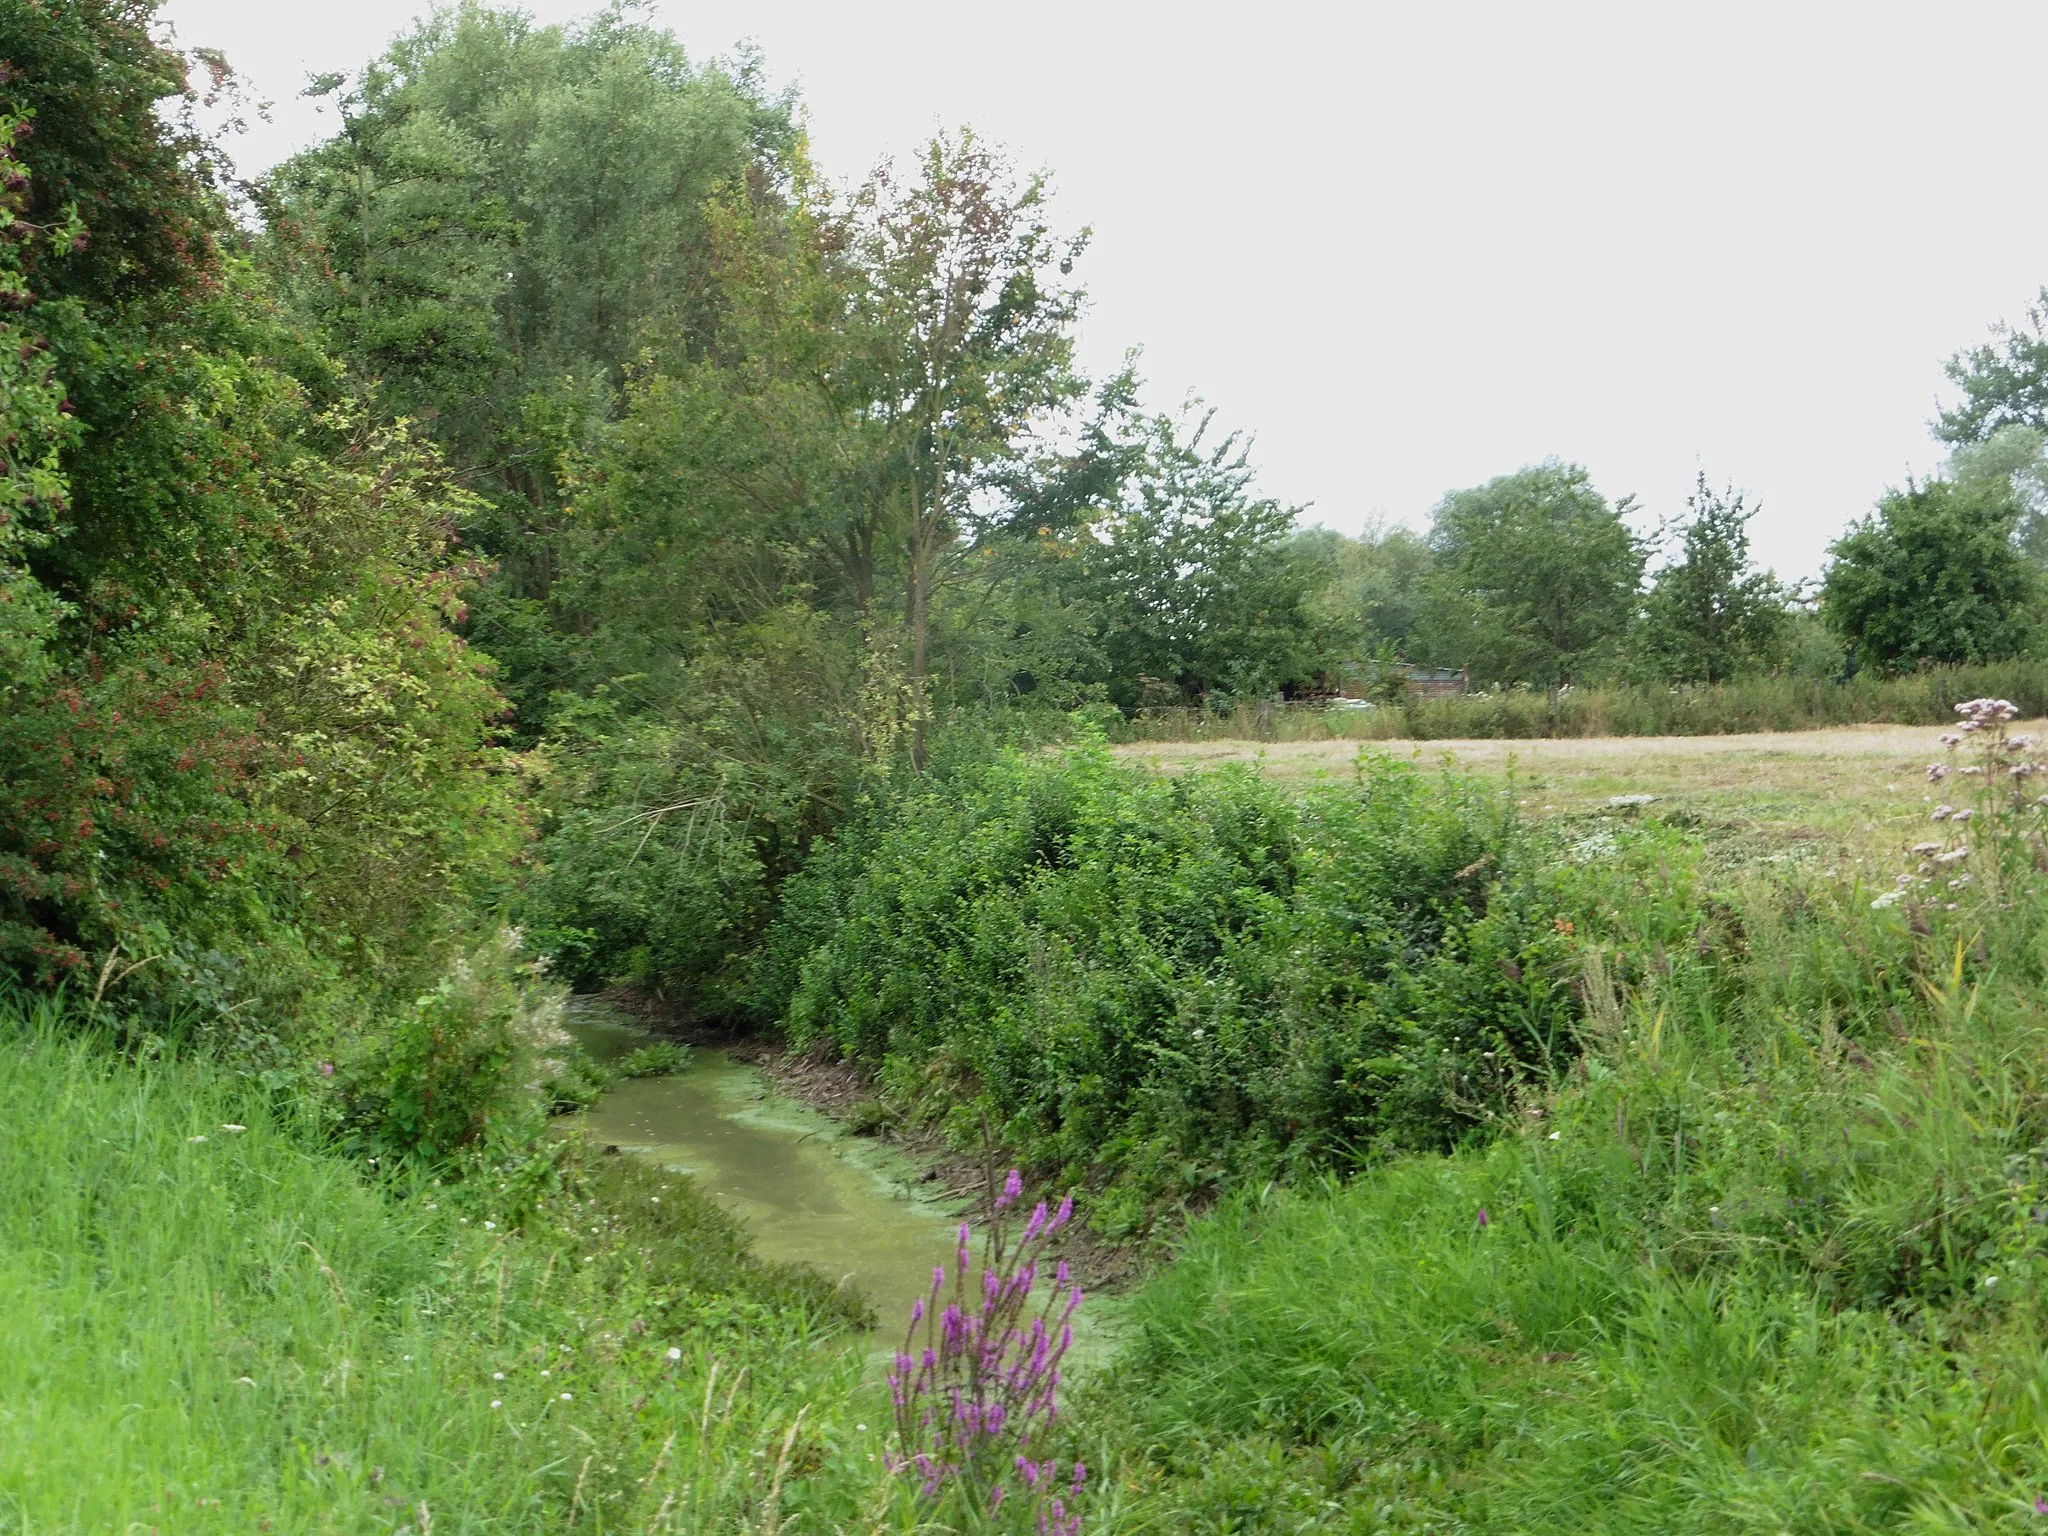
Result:
<instances>
[{"instance_id":1,"label":"strip of tall uncut grass along the mown field's far edge","mask_svg":"<svg viewBox=\"0 0 2048 1536\"><path fill-rule=\"evenodd\" d=\"M1573 688L1542 692L1409 694L1378 709L1239 705L1229 713L1155 709L1116 727L1126 741L1442 741L1470 737L1733 735L1825 725L1946 725L1964 698L2011 698L2030 719L2048 715L2048 662L1931 668L1847 682L1743 678L1712 688Z\"/></svg>"}]
</instances>

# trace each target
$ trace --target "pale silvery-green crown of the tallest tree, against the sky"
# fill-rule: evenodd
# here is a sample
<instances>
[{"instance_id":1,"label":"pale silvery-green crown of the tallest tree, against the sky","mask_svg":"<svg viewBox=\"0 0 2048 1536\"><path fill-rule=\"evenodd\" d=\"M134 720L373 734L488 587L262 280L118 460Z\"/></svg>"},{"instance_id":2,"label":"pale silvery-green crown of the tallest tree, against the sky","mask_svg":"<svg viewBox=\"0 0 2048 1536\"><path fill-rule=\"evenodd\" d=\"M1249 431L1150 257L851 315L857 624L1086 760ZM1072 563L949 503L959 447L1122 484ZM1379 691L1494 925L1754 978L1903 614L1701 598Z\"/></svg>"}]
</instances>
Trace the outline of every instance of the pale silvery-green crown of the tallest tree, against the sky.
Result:
<instances>
[{"instance_id":1,"label":"pale silvery-green crown of the tallest tree, against the sky","mask_svg":"<svg viewBox=\"0 0 2048 1536\"><path fill-rule=\"evenodd\" d=\"M705 205L782 180L793 102L631 8L537 27L475 0L313 90L342 131L268 176L264 264L487 498L467 526L506 569L477 633L510 641L553 582L557 457L610 414L647 324L700 338Z\"/></svg>"}]
</instances>

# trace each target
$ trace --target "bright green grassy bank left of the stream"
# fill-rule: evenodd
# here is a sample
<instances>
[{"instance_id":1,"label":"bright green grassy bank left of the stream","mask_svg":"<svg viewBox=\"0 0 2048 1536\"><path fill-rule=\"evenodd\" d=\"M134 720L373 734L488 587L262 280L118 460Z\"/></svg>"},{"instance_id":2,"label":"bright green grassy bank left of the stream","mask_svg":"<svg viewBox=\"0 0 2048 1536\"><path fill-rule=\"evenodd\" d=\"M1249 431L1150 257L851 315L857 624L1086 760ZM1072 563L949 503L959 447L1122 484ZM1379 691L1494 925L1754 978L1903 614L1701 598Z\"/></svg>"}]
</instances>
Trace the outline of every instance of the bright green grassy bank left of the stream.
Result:
<instances>
[{"instance_id":1,"label":"bright green grassy bank left of the stream","mask_svg":"<svg viewBox=\"0 0 2048 1536\"><path fill-rule=\"evenodd\" d=\"M0 1530L895 1524L858 1305L688 1180L379 1182L205 1063L4 1034Z\"/></svg>"}]
</instances>

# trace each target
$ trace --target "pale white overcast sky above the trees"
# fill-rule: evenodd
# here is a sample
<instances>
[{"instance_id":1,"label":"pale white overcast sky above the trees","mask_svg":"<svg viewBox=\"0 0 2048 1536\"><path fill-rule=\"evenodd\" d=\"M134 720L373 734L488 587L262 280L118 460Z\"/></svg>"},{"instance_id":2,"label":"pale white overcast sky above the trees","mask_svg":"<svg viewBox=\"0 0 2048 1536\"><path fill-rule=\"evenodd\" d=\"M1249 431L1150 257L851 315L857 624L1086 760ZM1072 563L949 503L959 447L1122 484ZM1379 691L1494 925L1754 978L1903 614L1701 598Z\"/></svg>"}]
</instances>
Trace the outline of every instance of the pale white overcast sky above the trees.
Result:
<instances>
[{"instance_id":1,"label":"pale white overcast sky above the trees","mask_svg":"<svg viewBox=\"0 0 2048 1536\"><path fill-rule=\"evenodd\" d=\"M545 20L590 4L537 0ZM319 137L412 0L168 0ZM1266 487L1356 528L1544 457L1675 512L1761 500L1786 575L1909 471L1942 358L2048 283L2042 4L657 0L760 43L842 180L971 123L1092 225L1085 354L1145 348Z\"/></svg>"}]
</instances>

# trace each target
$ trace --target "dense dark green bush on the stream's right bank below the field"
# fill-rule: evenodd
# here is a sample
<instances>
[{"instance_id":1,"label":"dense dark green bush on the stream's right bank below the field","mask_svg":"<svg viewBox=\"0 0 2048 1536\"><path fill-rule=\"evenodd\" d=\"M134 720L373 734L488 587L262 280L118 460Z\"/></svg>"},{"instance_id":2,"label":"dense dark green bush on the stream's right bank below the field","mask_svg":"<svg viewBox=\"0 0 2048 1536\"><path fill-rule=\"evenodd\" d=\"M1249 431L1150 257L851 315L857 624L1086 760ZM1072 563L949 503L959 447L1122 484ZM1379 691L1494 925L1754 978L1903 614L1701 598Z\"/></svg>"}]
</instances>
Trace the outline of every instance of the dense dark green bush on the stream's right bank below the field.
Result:
<instances>
[{"instance_id":1,"label":"dense dark green bush on the stream's right bank below the field","mask_svg":"<svg viewBox=\"0 0 2048 1536\"><path fill-rule=\"evenodd\" d=\"M1575 1049L1561 885L1505 797L1395 762L1298 801L1001 752L813 852L760 999L958 1128L1151 1198L1505 1108Z\"/></svg>"}]
</instances>

